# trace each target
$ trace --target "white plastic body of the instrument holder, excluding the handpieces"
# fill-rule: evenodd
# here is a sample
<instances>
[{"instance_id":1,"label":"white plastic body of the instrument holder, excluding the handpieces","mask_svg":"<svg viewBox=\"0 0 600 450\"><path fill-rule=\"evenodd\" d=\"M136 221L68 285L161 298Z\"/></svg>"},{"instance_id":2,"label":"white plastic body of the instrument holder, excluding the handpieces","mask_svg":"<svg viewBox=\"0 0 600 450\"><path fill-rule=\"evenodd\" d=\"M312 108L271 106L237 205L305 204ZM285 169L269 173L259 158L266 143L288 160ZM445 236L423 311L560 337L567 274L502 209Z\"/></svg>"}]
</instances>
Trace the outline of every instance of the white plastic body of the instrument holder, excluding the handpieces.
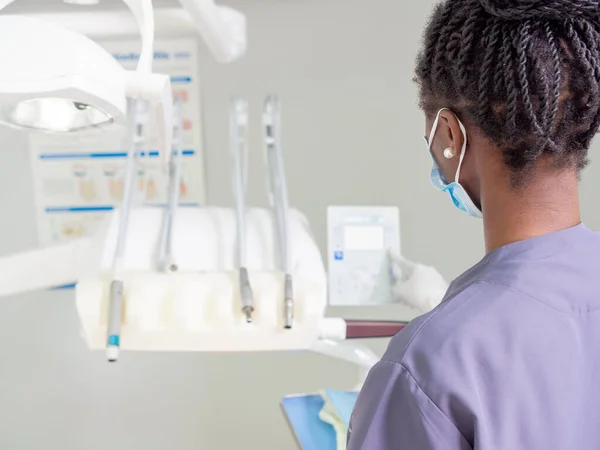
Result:
<instances>
[{"instance_id":1,"label":"white plastic body of the instrument holder, excluding the handpieces","mask_svg":"<svg viewBox=\"0 0 600 450\"><path fill-rule=\"evenodd\" d=\"M178 270L159 273L156 249L163 211L136 209L130 216L123 270L121 348L142 351L308 350L320 336L326 307L326 276L308 223L291 211L291 260L295 320L283 327L283 275L275 270L273 220L263 209L247 214L247 268L254 293L253 322L239 300L235 212L226 208L180 208L173 222ZM116 241L115 213L92 244L77 284L77 310L92 349L106 346L110 268Z\"/></svg>"}]
</instances>

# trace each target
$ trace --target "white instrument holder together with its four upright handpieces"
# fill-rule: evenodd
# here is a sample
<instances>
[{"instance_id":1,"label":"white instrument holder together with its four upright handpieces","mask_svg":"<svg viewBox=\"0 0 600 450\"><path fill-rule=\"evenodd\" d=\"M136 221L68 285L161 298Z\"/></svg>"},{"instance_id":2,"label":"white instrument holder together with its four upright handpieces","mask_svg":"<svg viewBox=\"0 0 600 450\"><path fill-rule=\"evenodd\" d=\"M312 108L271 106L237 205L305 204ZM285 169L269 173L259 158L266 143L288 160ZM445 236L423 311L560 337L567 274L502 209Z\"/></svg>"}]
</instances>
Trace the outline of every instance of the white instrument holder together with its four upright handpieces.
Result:
<instances>
[{"instance_id":1,"label":"white instrument holder together with its four upright handpieces","mask_svg":"<svg viewBox=\"0 0 600 450\"><path fill-rule=\"evenodd\" d=\"M236 105L239 99L232 103L233 108ZM265 126L272 125L269 114ZM243 126L244 120L243 108L234 111L232 130L239 130L235 125ZM236 208L184 208L176 206L180 128L174 135L167 208L129 211L132 202L127 197L86 258L93 263L87 265L76 289L89 346L106 348L111 324L123 350L309 350L324 321L327 280L308 222L287 206L280 146L267 148L274 214L245 206L247 142L236 133L232 133ZM135 158L130 161L128 167L135 167ZM286 255L283 263L282 257L274 256L277 250ZM246 279L240 269L246 269ZM295 292L290 302L292 275ZM111 280L113 285L119 281L122 302L112 300ZM242 297L250 286L251 323ZM114 326L115 316L120 328ZM294 318L291 328L290 317Z\"/></svg>"}]
</instances>

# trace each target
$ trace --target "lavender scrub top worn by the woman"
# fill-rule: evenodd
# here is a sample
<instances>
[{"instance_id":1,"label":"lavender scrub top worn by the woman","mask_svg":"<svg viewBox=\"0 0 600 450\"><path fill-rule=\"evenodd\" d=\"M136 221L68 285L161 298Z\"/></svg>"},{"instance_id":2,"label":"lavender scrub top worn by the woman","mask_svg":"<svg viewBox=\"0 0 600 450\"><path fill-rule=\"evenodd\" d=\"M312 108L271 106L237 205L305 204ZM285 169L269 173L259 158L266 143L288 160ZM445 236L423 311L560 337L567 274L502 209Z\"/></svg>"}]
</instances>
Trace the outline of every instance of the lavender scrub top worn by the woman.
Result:
<instances>
[{"instance_id":1,"label":"lavender scrub top worn by the woman","mask_svg":"<svg viewBox=\"0 0 600 450\"><path fill-rule=\"evenodd\" d=\"M600 449L600 234L501 247L396 335L347 450Z\"/></svg>"}]
</instances>

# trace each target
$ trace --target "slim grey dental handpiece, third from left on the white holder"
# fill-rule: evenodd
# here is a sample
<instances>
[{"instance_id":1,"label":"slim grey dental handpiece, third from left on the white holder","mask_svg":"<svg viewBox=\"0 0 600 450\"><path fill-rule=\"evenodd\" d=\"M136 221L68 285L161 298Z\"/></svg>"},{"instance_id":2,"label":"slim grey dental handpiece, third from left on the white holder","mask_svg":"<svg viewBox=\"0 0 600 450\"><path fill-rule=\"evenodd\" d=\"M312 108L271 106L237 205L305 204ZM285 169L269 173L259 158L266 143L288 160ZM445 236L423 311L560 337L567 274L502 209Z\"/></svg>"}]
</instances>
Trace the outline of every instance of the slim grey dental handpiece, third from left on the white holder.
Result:
<instances>
[{"instance_id":1,"label":"slim grey dental handpiece, third from left on the white holder","mask_svg":"<svg viewBox=\"0 0 600 450\"><path fill-rule=\"evenodd\" d=\"M252 322L254 294L246 266L246 173L248 153L248 103L234 97L230 106L230 148L233 159L233 193L237 226L240 303L246 322Z\"/></svg>"}]
</instances>

